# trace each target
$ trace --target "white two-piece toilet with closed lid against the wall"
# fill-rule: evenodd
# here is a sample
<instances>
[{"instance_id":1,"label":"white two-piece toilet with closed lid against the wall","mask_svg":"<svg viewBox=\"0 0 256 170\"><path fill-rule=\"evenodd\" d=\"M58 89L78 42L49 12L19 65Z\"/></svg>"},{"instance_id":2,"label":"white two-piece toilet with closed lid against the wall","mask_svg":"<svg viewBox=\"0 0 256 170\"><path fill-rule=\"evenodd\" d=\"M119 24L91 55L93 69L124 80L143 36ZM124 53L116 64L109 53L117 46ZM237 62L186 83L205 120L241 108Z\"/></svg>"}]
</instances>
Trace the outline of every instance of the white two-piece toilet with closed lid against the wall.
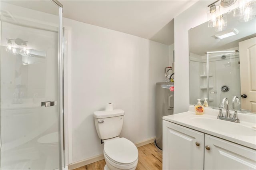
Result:
<instances>
[{"instance_id":1,"label":"white two-piece toilet with closed lid against the wall","mask_svg":"<svg viewBox=\"0 0 256 170\"><path fill-rule=\"evenodd\" d=\"M126 138L118 137L124 123L124 111L95 111L94 123L100 139L104 141L104 170L135 170L138 149Z\"/></svg>"}]
</instances>

